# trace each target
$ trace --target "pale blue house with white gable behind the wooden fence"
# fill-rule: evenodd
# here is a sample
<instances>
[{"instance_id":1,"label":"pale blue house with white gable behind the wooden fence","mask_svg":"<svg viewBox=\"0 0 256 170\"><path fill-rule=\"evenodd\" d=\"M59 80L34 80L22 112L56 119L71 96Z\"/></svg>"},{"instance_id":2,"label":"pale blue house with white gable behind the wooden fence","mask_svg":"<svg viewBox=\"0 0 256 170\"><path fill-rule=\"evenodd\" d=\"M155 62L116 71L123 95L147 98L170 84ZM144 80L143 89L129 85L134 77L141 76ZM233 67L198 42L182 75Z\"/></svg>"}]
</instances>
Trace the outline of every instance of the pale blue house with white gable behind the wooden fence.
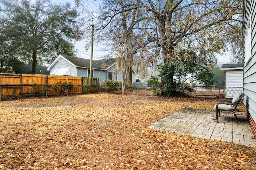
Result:
<instances>
[{"instance_id":1,"label":"pale blue house with white gable behind the wooden fence","mask_svg":"<svg viewBox=\"0 0 256 170\"><path fill-rule=\"evenodd\" d=\"M59 55L47 70L50 70L50 75L89 77L90 60ZM99 84L107 79L122 81L121 72L116 69L116 58L92 61L92 77L99 78ZM135 82L135 74L132 81Z\"/></svg>"}]
</instances>

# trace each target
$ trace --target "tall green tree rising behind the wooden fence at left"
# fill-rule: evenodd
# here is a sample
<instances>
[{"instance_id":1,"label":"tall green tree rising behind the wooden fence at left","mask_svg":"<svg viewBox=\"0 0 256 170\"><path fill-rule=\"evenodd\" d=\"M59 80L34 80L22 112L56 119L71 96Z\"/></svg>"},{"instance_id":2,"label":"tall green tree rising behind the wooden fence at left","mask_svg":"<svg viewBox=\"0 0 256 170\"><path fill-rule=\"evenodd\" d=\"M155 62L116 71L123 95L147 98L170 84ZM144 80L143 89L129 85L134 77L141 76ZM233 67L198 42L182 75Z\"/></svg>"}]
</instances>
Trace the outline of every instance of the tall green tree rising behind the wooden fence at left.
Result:
<instances>
[{"instance_id":1,"label":"tall green tree rising behind the wooden fence at left","mask_svg":"<svg viewBox=\"0 0 256 170\"><path fill-rule=\"evenodd\" d=\"M78 13L66 3L51 4L49 0L0 0L0 24L4 25L2 40L15 47L16 56L36 65L50 63L56 55L73 55Z\"/></svg>"}]
</instances>

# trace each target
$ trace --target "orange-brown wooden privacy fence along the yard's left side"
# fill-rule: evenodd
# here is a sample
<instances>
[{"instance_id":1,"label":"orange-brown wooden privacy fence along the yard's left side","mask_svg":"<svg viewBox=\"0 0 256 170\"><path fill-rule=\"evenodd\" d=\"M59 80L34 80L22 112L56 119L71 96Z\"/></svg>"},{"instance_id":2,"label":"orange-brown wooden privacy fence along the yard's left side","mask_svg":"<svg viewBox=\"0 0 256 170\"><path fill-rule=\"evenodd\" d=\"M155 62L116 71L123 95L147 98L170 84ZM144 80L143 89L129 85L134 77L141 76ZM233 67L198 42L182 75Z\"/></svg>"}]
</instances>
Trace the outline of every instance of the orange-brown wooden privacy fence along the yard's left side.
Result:
<instances>
[{"instance_id":1,"label":"orange-brown wooden privacy fence along the yard's left side","mask_svg":"<svg viewBox=\"0 0 256 170\"><path fill-rule=\"evenodd\" d=\"M49 76L0 73L0 100L22 96L67 95L99 92L99 79L88 77Z\"/></svg>"}]
</instances>

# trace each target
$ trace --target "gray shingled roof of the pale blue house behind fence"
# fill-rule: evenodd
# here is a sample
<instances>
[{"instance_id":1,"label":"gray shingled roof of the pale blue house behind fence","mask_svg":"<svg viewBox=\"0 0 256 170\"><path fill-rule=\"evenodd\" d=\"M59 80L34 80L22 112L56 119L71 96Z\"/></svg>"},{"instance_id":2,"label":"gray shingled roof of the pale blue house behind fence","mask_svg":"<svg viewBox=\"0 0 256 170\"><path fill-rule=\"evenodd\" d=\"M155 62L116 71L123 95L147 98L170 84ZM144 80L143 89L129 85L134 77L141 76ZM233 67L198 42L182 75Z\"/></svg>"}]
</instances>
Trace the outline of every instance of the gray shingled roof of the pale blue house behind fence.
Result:
<instances>
[{"instance_id":1,"label":"gray shingled roof of the pale blue house behind fence","mask_svg":"<svg viewBox=\"0 0 256 170\"><path fill-rule=\"evenodd\" d=\"M71 57L68 55L59 55L52 62L52 64L50 64L47 70L50 70L54 66L54 64L56 64L60 59L66 60L68 63L72 64L74 67L90 68L90 59ZM99 69L99 70L106 70L108 67L112 66L115 62L116 62L116 58L93 60L92 68Z\"/></svg>"}]
</instances>

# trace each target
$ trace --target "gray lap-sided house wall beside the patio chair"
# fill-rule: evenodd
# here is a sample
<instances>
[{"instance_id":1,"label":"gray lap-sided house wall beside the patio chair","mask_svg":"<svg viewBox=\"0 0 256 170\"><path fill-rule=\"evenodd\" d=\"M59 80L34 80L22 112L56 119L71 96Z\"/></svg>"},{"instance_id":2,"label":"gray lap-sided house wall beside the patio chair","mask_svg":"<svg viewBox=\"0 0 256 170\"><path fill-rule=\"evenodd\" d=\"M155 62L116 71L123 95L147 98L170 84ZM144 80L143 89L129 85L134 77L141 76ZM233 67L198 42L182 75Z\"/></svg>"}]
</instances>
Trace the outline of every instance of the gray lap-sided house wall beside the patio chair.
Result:
<instances>
[{"instance_id":1,"label":"gray lap-sided house wall beside the patio chair","mask_svg":"<svg viewBox=\"0 0 256 170\"><path fill-rule=\"evenodd\" d=\"M256 0L244 0L243 79L246 116L256 135Z\"/></svg>"}]
</instances>

